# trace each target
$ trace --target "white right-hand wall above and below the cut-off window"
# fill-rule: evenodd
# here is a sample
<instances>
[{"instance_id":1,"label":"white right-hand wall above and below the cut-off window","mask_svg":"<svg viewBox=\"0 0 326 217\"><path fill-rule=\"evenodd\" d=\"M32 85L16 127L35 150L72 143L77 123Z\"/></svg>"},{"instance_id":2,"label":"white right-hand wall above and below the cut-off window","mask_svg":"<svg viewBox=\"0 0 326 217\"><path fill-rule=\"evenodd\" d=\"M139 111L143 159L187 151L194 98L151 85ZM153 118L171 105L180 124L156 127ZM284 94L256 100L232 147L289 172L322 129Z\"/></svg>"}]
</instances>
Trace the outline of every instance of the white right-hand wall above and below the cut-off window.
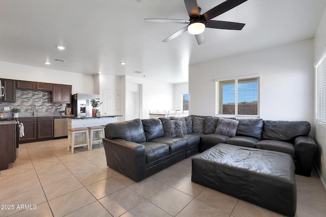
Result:
<instances>
[{"instance_id":1,"label":"white right-hand wall above and below the cut-off window","mask_svg":"<svg viewBox=\"0 0 326 217\"><path fill-rule=\"evenodd\" d=\"M319 22L315 40L314 40L314 60L316 61L318 57L321 55L322 51L325 49L326 44L326 8L322 14L321 20ZM315 105L315 104L314 104ZM315 121L314 124L314 140L317 143L318 150L317 154L315 155L315 163L317 169L321 175L321 180L323 182L324 188L326 189L326 127L320 125L318 122ZM321 164L321 157L322 155L322 164Z\"/></svg>"}]
</instances>

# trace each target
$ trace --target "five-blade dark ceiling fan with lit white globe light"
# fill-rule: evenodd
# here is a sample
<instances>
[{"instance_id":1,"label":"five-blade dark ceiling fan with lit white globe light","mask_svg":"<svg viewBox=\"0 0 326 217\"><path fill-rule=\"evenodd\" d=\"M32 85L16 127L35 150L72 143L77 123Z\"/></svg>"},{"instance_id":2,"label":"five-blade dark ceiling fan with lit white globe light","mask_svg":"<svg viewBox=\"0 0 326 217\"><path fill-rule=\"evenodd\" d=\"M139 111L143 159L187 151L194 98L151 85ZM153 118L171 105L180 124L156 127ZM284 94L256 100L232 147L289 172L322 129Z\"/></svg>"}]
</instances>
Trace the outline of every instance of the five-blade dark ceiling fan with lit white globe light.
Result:
<instances>
[{"instance_id":1,"label":"five-blade dark ceiling fan with lit white globe light","mask_svg":"<svg viewBox=\"0 0 326 217\"><path fill-rule=\"evenodd\" d=\"M227 0L220 5L210 9L204 14L200 14L201 8L198 7L196 0L184 0L185 7L189 14L189 20L180 19L144 19L145 22L167 22L167 23L182 23L188 24L185 27L178 30L176 33L172 34L163 42L169 42L172 39L180 36L182 33L188 30L189 34L195 35L198 44L203 44L205 42L204 30L207 28L220 28L220 29L233 29L241 30L244 23L238 22L228 22L220 20L211 20L212 18L219 16L232 8L246 2L248 0Z\"/></svg>"}]
</instances>

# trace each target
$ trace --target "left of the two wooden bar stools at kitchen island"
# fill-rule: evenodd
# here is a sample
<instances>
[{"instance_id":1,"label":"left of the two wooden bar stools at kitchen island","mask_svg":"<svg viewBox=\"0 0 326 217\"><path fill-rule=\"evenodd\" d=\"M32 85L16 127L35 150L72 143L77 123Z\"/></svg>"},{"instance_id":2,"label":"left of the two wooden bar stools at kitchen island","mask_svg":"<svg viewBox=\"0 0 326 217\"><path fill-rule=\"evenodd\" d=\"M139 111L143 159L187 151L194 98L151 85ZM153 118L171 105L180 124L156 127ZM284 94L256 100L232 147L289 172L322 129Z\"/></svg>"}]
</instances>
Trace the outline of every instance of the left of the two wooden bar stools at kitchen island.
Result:
<instances>
[{"instance_id":1,"label":"left of the two wooden bar stools at kitchen island","mask_svg":"<svg viewBox=\"0 0 326 217\"><path fill-rule=\"evenodd\" d=\"M82 141L77 141L75 136L82 136ZM71 146L71 153L76 147L87 146L88 150L90 149L90 139L88 135L87 128L70 128L68 129L68 151L69 146Z\"/></svg>"}]
</instances>

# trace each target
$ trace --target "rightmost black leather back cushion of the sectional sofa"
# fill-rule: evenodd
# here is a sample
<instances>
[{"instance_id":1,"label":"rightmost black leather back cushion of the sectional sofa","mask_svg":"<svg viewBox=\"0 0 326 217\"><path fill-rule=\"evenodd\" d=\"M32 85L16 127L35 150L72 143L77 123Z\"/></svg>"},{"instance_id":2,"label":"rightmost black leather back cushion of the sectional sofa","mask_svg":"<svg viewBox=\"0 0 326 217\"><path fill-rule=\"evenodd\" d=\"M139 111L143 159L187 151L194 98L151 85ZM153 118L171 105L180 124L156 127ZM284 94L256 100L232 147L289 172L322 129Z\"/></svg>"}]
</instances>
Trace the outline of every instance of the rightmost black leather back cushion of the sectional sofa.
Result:
<instances>
[{"instance_id":1,"label":"rightmost black leather back cushion of the sectional sofa","mask_svg":"<svg viewBox=\"0 0 326 217\"><path fill-rule=\"evenodd\" d=\"M308 136L308 121L264 120L262 139L293 142L297 136Z\"/></svg>"}]
</instances>

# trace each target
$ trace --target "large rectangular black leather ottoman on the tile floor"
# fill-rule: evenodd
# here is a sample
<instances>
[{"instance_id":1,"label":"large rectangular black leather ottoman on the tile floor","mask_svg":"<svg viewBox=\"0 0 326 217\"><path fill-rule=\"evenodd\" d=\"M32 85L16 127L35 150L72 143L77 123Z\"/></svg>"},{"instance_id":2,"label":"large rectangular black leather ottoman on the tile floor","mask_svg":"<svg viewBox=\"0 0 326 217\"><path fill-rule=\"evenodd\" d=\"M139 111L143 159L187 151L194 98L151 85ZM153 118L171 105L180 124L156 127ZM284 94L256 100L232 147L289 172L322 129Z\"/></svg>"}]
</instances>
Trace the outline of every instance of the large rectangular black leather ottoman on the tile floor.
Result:
<instances>
[{"instance_id":1,"label":"large rectangular black leather ottoman on the tile floor","mask_svg":"<svg viewBox=\"0 0 326 217\"><path fill-rule=\"evenodd\" d=\"M294 216L294 163L287 153L217 144L192 159L192 181Z\"/></svg>"}]
</instances>

